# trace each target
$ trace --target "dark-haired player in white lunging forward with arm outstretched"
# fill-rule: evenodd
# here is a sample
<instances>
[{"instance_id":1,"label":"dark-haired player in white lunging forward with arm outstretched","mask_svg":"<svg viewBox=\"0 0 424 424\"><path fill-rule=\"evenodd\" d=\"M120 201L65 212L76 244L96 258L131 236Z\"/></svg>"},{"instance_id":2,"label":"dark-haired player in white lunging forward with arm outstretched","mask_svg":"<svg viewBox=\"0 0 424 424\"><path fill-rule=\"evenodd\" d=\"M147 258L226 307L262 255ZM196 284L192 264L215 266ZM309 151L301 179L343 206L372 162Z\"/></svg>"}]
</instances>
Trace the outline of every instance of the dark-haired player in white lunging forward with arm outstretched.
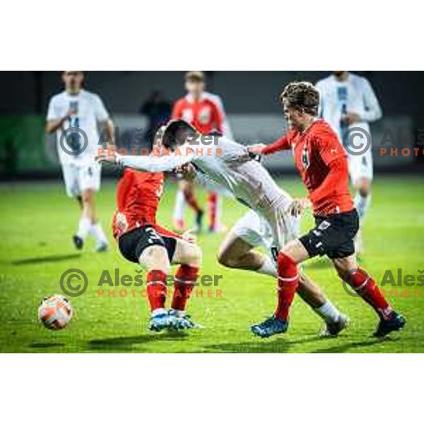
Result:
<instances>
[{"instance_id":1,"label":"dark-haired player in white lunging forward with arm outstretched","mask_svg":"<svg viewBox=\"0 0 424 424\"><path fill-rule=\"evenodd\" d=\"M123 156L105 152L99 155L99 160L119 163L146 172L165 172L192 163L199 175L211 179L213 184L224 187L235 199L251 209L247 218L238 224L239 230L244 227L243 231L247 233L249 226L253 226L250 232L257 232L257 240L260 237L263 242L269 240L268 247L271 247L271 251L276 254L286 242L298 236L298 220L287 213L293 199L283 192L268 171L252 158L247 147L222 136L202 136L193 126L181 120L170 122L162 131L163 146L170 148L172 153ZM198 140L199 137L205 137L204 143L200 140L195 141L194 137ZM189 143L192 142L196 147L190 147ZM266 235L262 233L261 228L265 229ZM240 232L242 231L237 234ZM250 251L260 243L249 239L249 244ZM252 259L251 263L239 262L236 267L276 275L276 266L269 257L259 252L251 252L249 256ZM324 319L326 334L336 336L346 327L347 317L341 314L306 276L301 278L298 293Z\"/></svg>"}]
</instances>

